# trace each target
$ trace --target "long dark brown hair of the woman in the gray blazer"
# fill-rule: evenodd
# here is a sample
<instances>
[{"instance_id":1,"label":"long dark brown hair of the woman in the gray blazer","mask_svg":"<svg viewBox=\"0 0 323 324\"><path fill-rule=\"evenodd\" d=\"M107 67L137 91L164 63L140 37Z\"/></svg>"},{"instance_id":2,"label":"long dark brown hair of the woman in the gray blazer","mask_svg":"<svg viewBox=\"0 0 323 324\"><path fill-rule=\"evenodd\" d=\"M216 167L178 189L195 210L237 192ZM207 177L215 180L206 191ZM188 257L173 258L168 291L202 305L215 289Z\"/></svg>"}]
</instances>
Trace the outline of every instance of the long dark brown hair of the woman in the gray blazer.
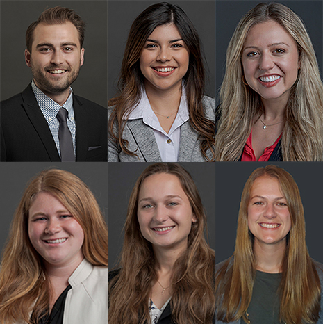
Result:
<instances>
[{"instance_id":1,"label":"long dark brown hair of the woman in the gray blazer","mask_svg":"<svg viewBox=\"0 0 323 324\"><path fill-rule=\"evenodd\" d=\"M165 24L174 24L176 26L190 51L188 72L183 77L188 112L190 114L190 125L199 133L200 147L204 159L213 161L215 156L215 122L206 118L202 102L205 71L201 41L194 25L185 12L179 6L167 2L149 6L134 20L131 26L119 76L119 95L108 102L108 106L114 106L109 119L109 137L115 143L118 143L126 154L136 155L135 152L127 149L128 141L122 138L126 125L126 120L123 118L129 116L129 113L140 101L144 76L140 70L139 59L144 44L156 27ZM210 149L213 156L211 159L206 154L208 149Z\"/></svg>"}]
</instances>

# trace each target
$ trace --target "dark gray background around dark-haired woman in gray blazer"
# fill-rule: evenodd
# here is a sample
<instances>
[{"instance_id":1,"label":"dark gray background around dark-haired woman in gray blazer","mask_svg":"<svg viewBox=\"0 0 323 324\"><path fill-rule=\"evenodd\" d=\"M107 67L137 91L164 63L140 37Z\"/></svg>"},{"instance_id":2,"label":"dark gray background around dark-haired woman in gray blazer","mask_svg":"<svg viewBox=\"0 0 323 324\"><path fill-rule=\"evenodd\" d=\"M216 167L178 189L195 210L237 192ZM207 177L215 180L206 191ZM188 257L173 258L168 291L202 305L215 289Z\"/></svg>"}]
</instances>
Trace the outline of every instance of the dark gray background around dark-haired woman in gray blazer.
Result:
<instances>
[{"instance_id":1,"label":"dark gray background around dark-haired woman in gray blazer","mask_svg":"<svg viewBox=\"0 0 323 324\"><path fill-rule=\"evenodd\" d=\"M133 20L160 1L108 1L108 97L116 94L124 48ZM215 97L215 1L169 1L180 6L194 24L208 65L206 95Z\"/></svg>"}]
</instances>

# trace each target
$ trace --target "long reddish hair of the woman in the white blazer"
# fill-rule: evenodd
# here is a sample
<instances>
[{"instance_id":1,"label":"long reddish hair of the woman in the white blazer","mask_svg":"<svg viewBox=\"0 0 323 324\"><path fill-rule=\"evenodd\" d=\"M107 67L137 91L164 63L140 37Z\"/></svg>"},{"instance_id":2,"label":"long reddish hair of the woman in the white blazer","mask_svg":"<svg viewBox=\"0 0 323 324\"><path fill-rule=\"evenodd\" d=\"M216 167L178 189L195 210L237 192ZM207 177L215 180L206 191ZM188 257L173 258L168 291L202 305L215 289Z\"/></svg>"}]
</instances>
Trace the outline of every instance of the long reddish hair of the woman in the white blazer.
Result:
<instances>
[{"instance_id":1,"label":"long reddish hair of the woman in the white blazer","mask_svg":"<svg viewBox=\"0 0 323 324\"><path fill-rule=\"evenodd\" d=\"M38 323L48 312L51 286L42 257L28 237L28 213L38 193L51 193L84 232L82 252L90 264L108 266L108 229L94 195L65 170L44 170L26 186L15 211L0 266L0 323ZM32 318L30 313L33 311Z\"/></svg>"}]
</instances>

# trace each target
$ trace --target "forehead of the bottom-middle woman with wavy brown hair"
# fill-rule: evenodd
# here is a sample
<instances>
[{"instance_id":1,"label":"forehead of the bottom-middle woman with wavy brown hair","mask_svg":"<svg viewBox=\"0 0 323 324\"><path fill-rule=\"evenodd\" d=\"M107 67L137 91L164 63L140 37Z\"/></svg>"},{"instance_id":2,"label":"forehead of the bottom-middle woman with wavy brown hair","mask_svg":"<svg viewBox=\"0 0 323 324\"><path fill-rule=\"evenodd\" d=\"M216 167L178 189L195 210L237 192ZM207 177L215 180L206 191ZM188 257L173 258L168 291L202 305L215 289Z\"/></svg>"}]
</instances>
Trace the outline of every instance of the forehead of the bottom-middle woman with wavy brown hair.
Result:
<instances>
[{"instance_id":1,"label":"forehead of the bottom-middle woman with wavy brown hair","mask_svg":"<svg viewBox=\"0 0 323 324\"><path fill-rule=\"evenodd\" d=\"M185 195L181 182L176 175L170 175L169 173L156 173L150 175L140 186L139 198L146 195L151 196L163 196L163 195Z\"/></svg>"}]
</instances>

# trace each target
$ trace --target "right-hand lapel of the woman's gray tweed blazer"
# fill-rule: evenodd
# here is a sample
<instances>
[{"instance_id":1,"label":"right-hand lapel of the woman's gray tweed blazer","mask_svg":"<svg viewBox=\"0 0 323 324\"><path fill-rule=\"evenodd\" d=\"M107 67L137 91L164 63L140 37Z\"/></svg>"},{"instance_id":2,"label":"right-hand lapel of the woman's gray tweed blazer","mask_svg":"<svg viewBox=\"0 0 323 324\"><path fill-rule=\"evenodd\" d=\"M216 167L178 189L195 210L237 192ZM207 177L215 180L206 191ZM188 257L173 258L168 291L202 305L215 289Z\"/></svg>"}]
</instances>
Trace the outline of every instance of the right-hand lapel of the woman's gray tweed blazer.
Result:
<instances>
[{"instance_id":1,"label":"right-hand lapel of the woman's gray tweed blazer","mask_svg":"<svg viewBox=\"0 0 323 324\"><path fill-rule=\"evenodd\" d=\"M193 154L193 149L197 143L198 134L192 130L190 122L184 122L181 126L181 139L179 145L178 161L190 162Z\"/></svg>"}]
</instances>

